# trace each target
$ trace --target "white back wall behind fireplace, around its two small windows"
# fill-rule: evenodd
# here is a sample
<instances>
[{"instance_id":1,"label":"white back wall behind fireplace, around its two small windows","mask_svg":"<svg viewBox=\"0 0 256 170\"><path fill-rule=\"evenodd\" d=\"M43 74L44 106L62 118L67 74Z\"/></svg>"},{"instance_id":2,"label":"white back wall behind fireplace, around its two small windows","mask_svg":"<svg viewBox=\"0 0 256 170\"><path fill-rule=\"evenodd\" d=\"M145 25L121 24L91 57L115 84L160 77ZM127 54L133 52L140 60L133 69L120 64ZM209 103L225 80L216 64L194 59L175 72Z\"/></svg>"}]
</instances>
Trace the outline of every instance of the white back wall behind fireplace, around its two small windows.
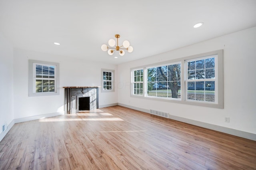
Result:
<instances>
[{"instance_id":1,"label":"white back wall behind fireplace, around its two small windows","mask_svg":"<svg viewBox=\"0 0 256 170\"><path fill-rule=\"evenodd\" d=\"M28 59L60 64L60 95L28 97ZM102 68L117 72L117 66L112 64L14 49L14 118L63 113L64 89L62 87L100 86ZM117 91L101 93L99 89L99 106L113 103L117 103Z\"/></svg>"}]
</instances>

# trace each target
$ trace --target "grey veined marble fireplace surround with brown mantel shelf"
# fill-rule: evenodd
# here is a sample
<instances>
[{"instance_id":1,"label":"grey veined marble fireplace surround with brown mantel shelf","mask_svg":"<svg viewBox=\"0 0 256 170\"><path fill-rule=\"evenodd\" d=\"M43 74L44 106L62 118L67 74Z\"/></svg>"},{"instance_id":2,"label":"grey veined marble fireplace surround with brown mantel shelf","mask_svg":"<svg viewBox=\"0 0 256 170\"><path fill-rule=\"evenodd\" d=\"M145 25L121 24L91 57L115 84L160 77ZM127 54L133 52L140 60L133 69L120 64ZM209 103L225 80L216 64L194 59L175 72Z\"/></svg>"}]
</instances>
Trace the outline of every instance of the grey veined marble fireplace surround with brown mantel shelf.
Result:
<instances>
[{"instance_id":1,"label":"grey veined marble fireplace surround with brown mantel shelf","mask_svg":"<svg viewBox=\"0 0 256 170\"><path fill-rule=\"evenodd\" d=\"M78 101L80 97L90 97L90 110L99 108L98 88L100 86L78 86L78 87L63 87L64 94L64 111L65 114L79 112Z\"/></svg>"}]
</instances>

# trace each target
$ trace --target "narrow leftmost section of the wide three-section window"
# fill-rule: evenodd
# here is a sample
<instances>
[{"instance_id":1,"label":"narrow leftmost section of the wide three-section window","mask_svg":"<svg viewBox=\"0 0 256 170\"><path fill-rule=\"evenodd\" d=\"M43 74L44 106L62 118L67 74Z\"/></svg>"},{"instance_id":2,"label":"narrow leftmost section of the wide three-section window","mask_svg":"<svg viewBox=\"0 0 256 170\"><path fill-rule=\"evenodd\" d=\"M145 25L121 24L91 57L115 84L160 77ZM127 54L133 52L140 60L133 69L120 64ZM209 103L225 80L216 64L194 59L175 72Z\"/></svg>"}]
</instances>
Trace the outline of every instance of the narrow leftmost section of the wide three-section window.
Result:
<instances>
[{"instance_id":1,"label":"narrow leftmost section of the wide three-section window","mask_svg":"<svg viewBox=\"0 0 256 170\"><path fill-rule=\"evenodd\" d=\"M143 69L133 70L132 87L134 95L143 95Z\"/></svg>"}]
</instances>

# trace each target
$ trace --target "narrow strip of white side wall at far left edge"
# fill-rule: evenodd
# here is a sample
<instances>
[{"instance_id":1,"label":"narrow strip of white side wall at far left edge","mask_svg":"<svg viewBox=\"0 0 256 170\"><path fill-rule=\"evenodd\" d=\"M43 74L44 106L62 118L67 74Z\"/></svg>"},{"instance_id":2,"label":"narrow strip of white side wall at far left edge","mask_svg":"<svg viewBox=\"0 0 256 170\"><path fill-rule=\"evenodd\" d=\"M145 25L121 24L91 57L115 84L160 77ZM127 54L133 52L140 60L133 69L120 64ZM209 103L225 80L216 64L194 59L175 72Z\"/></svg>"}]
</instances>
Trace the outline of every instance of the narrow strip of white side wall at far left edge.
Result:
<instances>
[{"instance_id":1,"label":"narrow strip of white side wall at far left edge","mask_svg":"<svg viewBox=\"0 0 256 170\"><path fill-rule=\"evenodd\" d=\"M0 141L7 131L2 125L13 125L13 47L0 32ZM7 127L6 127L7 128ZM8 130L9 130L8 129Z\"/></svg>"}]
</instances>

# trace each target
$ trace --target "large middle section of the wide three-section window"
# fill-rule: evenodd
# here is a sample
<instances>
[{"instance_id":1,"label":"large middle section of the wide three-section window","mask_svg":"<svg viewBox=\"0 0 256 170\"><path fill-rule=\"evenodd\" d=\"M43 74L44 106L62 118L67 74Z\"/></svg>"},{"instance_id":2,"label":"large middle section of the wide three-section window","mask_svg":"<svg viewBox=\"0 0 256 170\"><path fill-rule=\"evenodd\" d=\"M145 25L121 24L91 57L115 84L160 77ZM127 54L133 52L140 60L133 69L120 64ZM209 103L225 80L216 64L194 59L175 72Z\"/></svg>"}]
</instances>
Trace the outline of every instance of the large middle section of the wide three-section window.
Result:
<instances>
[{"instance_id":1,"label":"large middle section of the wide three-section window","mask_svg":"<svg viewBox=\"0 0 256 170\"><path fill-rule=\"evenodd\" d=\"M180 63L147 68L147 96L180 99Z\"/></svg>"}]
</instances>

